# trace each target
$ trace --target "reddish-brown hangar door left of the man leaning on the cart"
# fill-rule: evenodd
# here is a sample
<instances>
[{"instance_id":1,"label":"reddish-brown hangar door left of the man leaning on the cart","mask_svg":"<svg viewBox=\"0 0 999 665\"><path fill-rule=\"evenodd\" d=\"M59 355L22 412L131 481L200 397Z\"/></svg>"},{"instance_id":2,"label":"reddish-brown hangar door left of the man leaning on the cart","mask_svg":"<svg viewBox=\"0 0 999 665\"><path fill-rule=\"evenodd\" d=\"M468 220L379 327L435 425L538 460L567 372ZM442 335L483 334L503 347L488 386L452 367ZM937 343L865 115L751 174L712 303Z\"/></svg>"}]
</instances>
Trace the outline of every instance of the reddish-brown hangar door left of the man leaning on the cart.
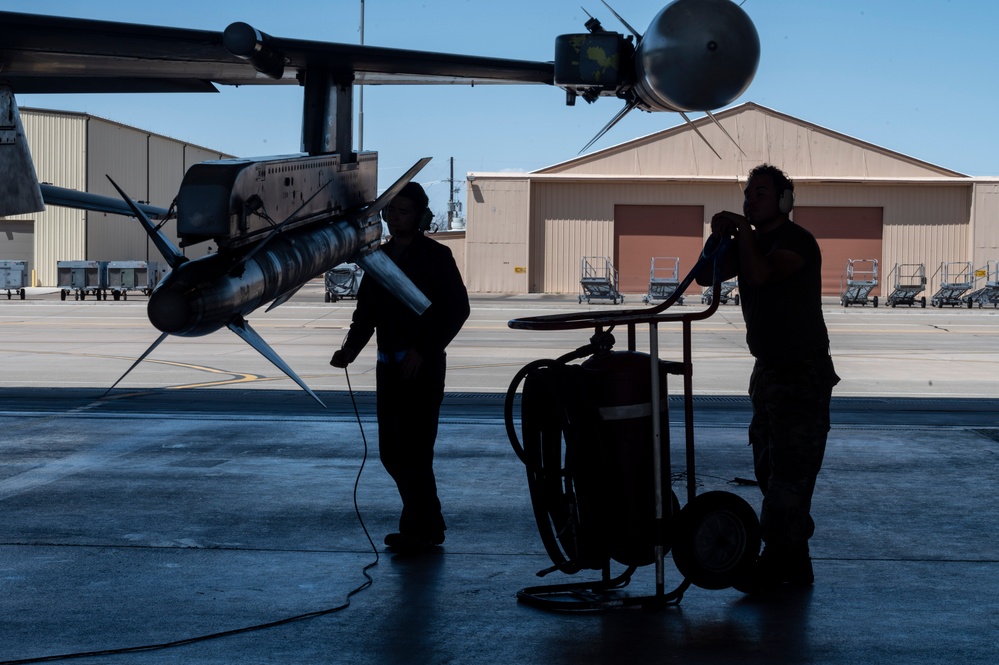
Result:
<instances>
[{"instance_id":1,"label":"reddish-brown hangar door left of the man leaning on the cart","mask_svg":"<svg viewBox=\"0 0 999 665\"><path fill-rule=\"evenodd\" d=\"M622 293L648 293L653 257L680 259L682 279L697 263L704 238L704 206L614 206L614 267ZM656 262L659 268L667 263ZM696 288L696 287L692 287Z\"/></svg>"}]
</instances>

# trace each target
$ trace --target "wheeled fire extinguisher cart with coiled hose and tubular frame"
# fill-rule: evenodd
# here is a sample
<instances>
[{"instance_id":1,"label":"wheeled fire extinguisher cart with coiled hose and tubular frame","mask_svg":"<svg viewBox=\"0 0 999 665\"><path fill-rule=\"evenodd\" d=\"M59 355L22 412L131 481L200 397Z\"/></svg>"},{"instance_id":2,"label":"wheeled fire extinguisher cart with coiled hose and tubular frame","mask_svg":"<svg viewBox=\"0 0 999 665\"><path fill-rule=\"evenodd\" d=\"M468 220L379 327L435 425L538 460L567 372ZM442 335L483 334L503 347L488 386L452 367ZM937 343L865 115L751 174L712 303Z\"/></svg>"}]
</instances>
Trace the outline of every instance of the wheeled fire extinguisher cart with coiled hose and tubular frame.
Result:
<instances>
[{"instance_id":1,"label":"wheeled fire extinguisher cart with coiled hose and tubular frame","mask_svg":"<svg viewBox=\"0 0 999 665\"><path fill-rule=\"evenodd\" d=\"M510 442L527 469L542 541L555 563L538 574L589 569L601 571L601 579L527 587L517 593L519 601L559 611L654 608L678 604L692 584L723 589L747 579L761 545L756 512L730 492L697 494L694 461L691 327L718 308L721 283L715 259L727 245L727 240L719 245L710 239L678 287L686 289L694 275L713 265L714 297L707 309L670 312L666 310L673 303L667 300L648 309L509 322L519 330L594 331L590 344L555 360L535 361L518 372L507 392L504 416ZM659 326L667 323L680 326L681 361L659 358ZM627 334L626 351L612 349L611 332L618 326ZM635 350L638 326L648 326L647 354ZM581 365L571 364L586 356L590 357ZM680 377L683 385L686 502L682 507L670 488L668 376ZM522 445L513 418L521 381ZM682 581L667 591L665 555L670 550ZM612 560L626 567L623 573L612 575ZM651 564L655 564L654 594L624 595L621 589L638 567Z\"/></svg>"}]
</instances>

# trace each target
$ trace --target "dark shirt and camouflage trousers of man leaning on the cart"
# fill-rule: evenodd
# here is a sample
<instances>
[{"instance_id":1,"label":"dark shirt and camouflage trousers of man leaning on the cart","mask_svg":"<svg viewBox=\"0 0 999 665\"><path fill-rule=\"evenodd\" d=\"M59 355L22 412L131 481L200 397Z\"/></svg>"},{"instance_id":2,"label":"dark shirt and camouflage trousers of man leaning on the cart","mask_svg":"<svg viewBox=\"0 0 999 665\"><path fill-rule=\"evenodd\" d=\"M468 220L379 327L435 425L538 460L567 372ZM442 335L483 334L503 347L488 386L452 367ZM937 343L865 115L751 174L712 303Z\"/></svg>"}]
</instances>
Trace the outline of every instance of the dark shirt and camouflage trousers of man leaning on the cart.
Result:
<instances>
[{"instance_id":1,"label":"dark shirt and camouflage trousers of man leaning on the cart","mask_svg":"<svg viewBox=\"0 0 999 665\"><path fill-rule=\"evenodd\" d=\"M829 432L832 388L839 382L822 317L822 256L815 238L791 221L756 233L764 254L788 250L805 260L796 273L765 285L739 276L746 341L756 358L749 380L756 479L763 491L763 542L807 551L809 515Z\"/></svg>"}]
</instances>

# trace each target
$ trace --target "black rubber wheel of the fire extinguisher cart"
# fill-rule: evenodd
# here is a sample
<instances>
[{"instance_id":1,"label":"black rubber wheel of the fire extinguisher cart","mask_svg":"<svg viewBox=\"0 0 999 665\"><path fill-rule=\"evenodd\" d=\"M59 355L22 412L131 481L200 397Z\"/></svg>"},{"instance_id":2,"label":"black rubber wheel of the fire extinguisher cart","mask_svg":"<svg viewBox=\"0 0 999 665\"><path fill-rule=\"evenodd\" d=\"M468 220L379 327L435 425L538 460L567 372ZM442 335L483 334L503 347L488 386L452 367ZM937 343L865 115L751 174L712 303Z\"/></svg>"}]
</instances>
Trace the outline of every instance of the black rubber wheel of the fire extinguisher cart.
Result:
<instances>
[{"instance_id":1,"label":"black rubber wheel of the fire extinguisher cart","mask_svg":"<svg viewBox=\"0 0 999 665\"><path fill-rule=\"evenodd\" d=\"M746 576L759 553L760 521L742 497L706 492L680 511L673 561L692 584L730 587Z\"/></svg>"}]
</instances>

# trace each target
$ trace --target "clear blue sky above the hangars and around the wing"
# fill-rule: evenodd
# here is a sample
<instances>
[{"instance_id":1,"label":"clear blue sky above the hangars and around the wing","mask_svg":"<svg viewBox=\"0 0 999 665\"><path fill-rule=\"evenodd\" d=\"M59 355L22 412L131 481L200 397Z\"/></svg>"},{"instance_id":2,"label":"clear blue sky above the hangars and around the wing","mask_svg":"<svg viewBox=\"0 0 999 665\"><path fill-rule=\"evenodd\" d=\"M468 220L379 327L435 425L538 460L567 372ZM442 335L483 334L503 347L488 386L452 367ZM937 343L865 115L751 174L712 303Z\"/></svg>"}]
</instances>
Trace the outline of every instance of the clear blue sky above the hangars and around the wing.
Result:
<instances>
[{"instance_id":1,"label":"clear blue sky above the hangars and around the wing","mask_svg":"<svg viewBox=\"0 0 999 665\"><path fill-rule=\"evenodd\" d=\"M644 31L666 4L614 0ZM620 27L599 0L366 0L365 43L470 55L551 60L556 35L586 16ZM359 0L0 0L0 8L221 31L246 21L280 37L357 43ZM746 0L760 33L753 101L917 159L999 176L999 3L991 0ZM241 156L296 152L301 92L291 86L218 95L25 95L22 106L85 111ZM548 86L366 87L364 147L377 150L384 188L422 156L418 176L435 212L455 159L467 171L528 171L574 157L619 102L566 107ZM632 113L592 149L680 124ZM356 132L355 132L356 140ZM464 190L459 198L464 200Z\"/></svg>"}]
</instances>

